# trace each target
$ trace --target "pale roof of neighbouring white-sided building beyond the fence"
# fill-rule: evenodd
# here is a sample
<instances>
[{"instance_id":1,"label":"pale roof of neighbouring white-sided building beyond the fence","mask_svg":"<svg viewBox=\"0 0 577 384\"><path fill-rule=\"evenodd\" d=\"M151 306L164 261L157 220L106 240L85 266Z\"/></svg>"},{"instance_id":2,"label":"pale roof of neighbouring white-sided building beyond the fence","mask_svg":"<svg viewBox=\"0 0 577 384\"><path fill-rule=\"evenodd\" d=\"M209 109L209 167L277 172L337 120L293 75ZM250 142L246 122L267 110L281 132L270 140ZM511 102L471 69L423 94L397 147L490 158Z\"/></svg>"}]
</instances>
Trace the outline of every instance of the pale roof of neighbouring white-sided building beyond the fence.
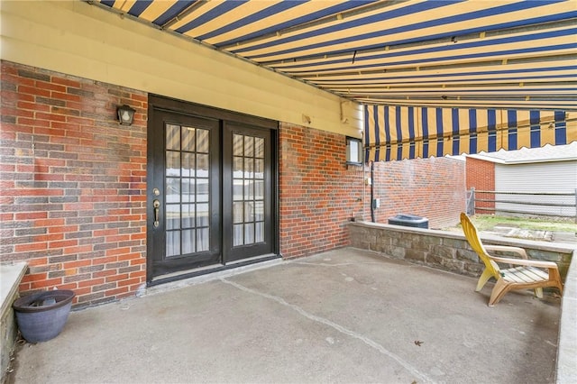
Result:
<instances>
[{"instance_id":1,"label":"pale roof of neighbouring white-sided building beyond the fence","mask_svg":"<svg viewBox=\"0 0 577 384\"><path fill-rule=\"evenodd\" d=\"M545 145L541 148L521 148L518 151L481 152L468 157L501 164L577 160L577 142L567 145Z\"/></svg>"}]
</instances>

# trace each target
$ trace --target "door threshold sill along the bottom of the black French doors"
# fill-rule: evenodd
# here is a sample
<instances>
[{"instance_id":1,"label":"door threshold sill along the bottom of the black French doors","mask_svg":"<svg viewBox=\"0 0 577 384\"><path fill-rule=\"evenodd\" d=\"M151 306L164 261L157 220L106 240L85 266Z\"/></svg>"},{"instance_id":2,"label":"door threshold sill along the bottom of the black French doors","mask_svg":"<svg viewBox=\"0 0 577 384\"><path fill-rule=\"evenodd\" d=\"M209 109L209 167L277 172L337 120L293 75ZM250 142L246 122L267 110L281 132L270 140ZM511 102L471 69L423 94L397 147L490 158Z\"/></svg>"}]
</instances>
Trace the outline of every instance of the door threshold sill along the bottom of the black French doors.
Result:
<instances>
[{"instance_id":1,"label":"door threshold sill along the bottom of the black French doors","mask_svg":"<svg viewBox=\"0 0 577 384\"><path fill-rule=\"evenodd\" d=\"M231 261L227 264L213 264L208 265L206 267L195 268L192 270L179 270L178 272L169 273L166 275L161 275L156 278L152 278L151 281L147 283L147 287L155 287L162 284L167 284L170 282L175 282L179 280L188 280L188 279L195 279L198 277L206 277L203 281L208 279L220 279L221 276L216 276L216 272L227 272L227 275L230 275L231 272L238 273L241 271L245 271L245 267L255 266L258 268L258 264L261 264L265 261L275 261L281 259L280 255L271 253L264 256L257 256L250 259L243 259L239 261ZM268 266L268 265L267 265ZM256 269L255 268L255 269ZM252 269L251 269L252 270ZM213 276L214 275L214 276ZM190 282L196 283L197 281ZM188 285L188 284L185 284Z\"/></svg>"}]
</instances>

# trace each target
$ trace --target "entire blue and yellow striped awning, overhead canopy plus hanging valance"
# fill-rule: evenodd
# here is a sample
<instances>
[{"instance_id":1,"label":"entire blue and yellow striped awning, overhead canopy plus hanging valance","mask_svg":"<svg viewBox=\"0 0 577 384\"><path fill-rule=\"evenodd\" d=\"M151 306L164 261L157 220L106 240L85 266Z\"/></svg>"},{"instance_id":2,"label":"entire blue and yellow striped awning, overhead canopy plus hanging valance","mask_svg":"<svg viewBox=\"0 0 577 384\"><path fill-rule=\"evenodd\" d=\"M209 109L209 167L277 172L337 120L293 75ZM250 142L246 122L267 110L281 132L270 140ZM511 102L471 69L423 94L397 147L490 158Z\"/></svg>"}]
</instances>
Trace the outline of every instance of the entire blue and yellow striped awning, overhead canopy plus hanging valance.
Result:
<instances>
[{"instance_id":1,"label":"entire blue and yellow striped awning, overhead canopy plus hanging valance","mask_svg":"<svg viewBox=\"0 0 577 384\"><path fill-rule=\"evenodd\" d=\"M367 105L367 160L575 140L575 0L90 3Z\"/></svg>"}]
</instances>

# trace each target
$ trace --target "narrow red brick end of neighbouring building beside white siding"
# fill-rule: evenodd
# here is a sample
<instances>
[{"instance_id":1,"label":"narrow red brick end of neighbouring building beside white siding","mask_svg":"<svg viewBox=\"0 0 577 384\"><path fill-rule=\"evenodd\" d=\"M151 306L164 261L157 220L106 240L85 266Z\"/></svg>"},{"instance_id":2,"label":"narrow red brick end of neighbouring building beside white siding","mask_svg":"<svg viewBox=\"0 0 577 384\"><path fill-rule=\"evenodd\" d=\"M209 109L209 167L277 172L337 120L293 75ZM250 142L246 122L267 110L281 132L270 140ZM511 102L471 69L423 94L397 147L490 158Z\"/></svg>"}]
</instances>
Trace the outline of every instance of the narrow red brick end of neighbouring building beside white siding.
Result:
<instances>
[{"instance_id":1,"label":"narrow red brick end of neighbouring building beside white siding","mask_svg":"<svg viewBox=\"0 0 577 384\"><path fill-rule=\"evenodd\" d=\"M466 166L466 174L467 174L467 190L471 190L472 187L475 190L485 190L485 191L494 191L495 190L495 163L486 160L479 160L471 157L467 157L467 166ZM494 194L477 194L476 198L478 199L488 199L494 200ZM485 208L495 208L494 202L483 202L477 201L475 202L475 207L485 207ZM485 211L476 209L476 214L489 214L492 213L493 210Z\"/></svg>"}]
</instances>

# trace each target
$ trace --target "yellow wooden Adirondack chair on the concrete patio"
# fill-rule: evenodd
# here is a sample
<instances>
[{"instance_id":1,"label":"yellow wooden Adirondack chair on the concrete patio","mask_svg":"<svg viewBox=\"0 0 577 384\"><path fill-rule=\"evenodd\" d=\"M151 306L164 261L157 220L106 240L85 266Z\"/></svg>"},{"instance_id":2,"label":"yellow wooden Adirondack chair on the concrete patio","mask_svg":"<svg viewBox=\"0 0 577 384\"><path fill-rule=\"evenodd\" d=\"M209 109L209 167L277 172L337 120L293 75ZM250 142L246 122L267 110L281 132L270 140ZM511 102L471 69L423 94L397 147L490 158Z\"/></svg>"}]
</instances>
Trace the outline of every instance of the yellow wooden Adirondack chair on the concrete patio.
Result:
<instances>
[{"instance_id":1,"label":"yellow wooden Adirondack chair on the concrete patio","mask_svg":"<svg viewBox=\"0 0 577 384\"><path fill-rule=\"evenodd\" d=\"M461 214L463 233L485 264L485 270L477 282L475 291L479 292L490 278L497 280L490 294L489 306L499 303L499 300L511 289L535 288L536 297L543 297L543 288L554 287L563 294L563 284L557 264L552 261L528 260L527 252L523 248L505 245L483 245L479 232L471 220L464 213ZM517 253L521 259L492 256L488 251L509 251ZM516 267L507 270L500 269L500 263L508 263Z\"/></svg>"}]
</instances>

